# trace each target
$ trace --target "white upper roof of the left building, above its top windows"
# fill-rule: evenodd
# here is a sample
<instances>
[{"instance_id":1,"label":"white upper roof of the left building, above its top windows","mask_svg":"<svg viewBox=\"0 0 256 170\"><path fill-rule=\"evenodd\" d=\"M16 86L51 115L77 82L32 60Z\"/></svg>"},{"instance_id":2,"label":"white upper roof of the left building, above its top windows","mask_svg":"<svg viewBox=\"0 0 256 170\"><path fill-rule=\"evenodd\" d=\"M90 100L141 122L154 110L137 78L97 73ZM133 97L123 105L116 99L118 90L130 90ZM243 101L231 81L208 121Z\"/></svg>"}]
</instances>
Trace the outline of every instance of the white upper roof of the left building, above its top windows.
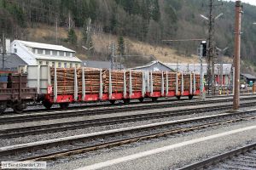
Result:
<instances>
[{"instance_id":1,"label":"white upper roof of the left building, above its top windows","mask_svg":"<svg viewBox=\"0 0 256 170\"><path fill-rule=\"evenodd\" d=\"M26 47L30 48L41 48L41 49L51 49L51 50L57 50L57 51L66 51L66 52L72 52L75 53L72 49L65 48L61 45L54 45L49 43L41 43L41 42L26 42L21 40L15 40L14 42L20 42Z\"/></svg>"}]
</instances>

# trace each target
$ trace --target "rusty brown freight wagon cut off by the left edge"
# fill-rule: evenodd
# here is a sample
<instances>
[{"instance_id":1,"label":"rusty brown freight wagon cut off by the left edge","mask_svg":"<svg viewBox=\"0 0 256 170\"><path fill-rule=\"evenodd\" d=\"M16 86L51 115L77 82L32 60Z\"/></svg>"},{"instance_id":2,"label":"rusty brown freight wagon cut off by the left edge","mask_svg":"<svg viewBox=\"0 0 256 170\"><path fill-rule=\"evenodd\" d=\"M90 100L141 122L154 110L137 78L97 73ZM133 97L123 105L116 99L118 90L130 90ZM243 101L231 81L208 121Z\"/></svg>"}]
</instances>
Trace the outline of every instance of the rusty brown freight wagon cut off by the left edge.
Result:
<instances>
[{"instance_id":1,"label":"rusty brown freight wagon cut off by the left edge","mask_svg":"<svg viewBox=\"0 0 256 170\"><path fill-rule=\"evenodd\" d=\"M0 71L0 114L6 108L20 113L26 109L27 102L37 99L37 90L27 87L26 77L26 74Z\"/></svg>"}]
</instances>

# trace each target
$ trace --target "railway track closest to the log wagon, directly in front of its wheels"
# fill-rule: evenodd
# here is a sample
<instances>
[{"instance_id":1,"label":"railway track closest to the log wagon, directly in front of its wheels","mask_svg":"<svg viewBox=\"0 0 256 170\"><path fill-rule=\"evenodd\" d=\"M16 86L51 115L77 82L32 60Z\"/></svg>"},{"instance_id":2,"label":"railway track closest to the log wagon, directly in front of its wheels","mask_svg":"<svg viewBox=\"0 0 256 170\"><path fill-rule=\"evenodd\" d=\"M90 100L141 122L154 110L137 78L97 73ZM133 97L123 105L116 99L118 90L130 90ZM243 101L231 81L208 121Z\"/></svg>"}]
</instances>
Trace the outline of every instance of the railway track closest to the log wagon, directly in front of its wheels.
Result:
<instances>
[{"instance_id":1,"label":"railway track closest to the log wagon, directly in front of its wheels","mask_svg":"<svg viewBox=\"0 0 256 170\"><path fill-rule=\"evenodd\" d=\"M242 97L241 100L253 100L256 99L256 96ZM81 109L81 110L72 110L72 111L51 111L51 112L43 112L43 113L35 113L35 114L23 114L23 115L15 115L15 116L0 116L0 125L10 124L10 123L20 123L20 122L35 122L35 121L45 121L45 120L53 120L60 118L70 118L70 117L78 117L78 116L88 116L88 115L102 115L115 113L120 111L143 111L149 109L160 109L160 108L171 108L177 106L184 105L203 105L203 104L214 104L219 102L227 102L231 101L231 98L224 99L208 99L205 101L190 101L190 102L161 102L152 105L150 104L142 104L142 105L122 105L122 106L114 106L114 107L102 107L102 108L94 108L94 109Z\"/></svg>"}]
</instances>

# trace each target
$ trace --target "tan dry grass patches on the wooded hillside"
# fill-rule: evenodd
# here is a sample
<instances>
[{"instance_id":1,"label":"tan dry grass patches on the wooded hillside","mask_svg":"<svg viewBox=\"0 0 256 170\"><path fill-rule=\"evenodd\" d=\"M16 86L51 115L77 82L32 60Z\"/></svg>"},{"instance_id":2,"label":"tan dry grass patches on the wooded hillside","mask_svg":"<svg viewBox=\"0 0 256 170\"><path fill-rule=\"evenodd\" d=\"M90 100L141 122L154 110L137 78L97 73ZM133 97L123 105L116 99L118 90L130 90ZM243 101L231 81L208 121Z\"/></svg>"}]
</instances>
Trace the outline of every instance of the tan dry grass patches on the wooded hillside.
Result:
<instances>
[{"instance_id":1,"label":"tan dry grass patches on the wooded hillside","mask_svg":"<svg viewBox=\"0 0 256 170\"><path fill-rule=\"evenodd\" d=\"M82 32L79 29L75 29L79 41L82 38ZM58 38L66 39L67 38L67 28L59 27L58 28ZM55 43L55 26L44 26L38 25L36 28L28 28L26 39L29 41L36 42L49 42ZM106 55L109 53L109 46L113 42L117 44L118 37L105 34L105 33L96 33L92 36L94 50L98 54ZM160 60L165 63L198 63L199 59L196 55L191 57L185 57L183 55L178 55L175 49L169 46L153 46L145 42L139 42L131 38L125 37L125 52L126 54L141 54L141 55L154 55L155 59ZM86 59L86 56L82 53L77 54L79 58ZM224 62L232 62L232 59L229 57L223 57Z\"/></svg>"}]
</instances>

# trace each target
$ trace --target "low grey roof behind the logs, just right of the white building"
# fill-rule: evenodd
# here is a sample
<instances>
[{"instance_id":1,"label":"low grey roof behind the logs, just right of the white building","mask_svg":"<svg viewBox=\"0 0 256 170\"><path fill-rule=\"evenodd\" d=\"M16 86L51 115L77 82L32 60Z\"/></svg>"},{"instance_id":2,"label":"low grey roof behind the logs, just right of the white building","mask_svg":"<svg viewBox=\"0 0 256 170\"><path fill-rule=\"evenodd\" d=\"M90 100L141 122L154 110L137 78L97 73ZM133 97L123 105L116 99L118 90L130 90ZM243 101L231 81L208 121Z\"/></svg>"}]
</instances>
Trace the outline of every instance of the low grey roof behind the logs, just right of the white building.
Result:
<instances>
[{"instance_id":1,"label":"low grey roof behind the logs, just right of the white building","mask_svg":"<svg viewBox=\"0 0 256 170\"><path fill-rule=\"evenodd\" d=\"M111 68L111 62L110 61L96 61L96 60L82 60L82 66L99 68L99 69L109 69L109 68ZM119 69L120 64L114 63L113 67ZM121 65L121 69L124 69L124 68L125 68L124 65Z\"/></svg>"}]
</instances>

